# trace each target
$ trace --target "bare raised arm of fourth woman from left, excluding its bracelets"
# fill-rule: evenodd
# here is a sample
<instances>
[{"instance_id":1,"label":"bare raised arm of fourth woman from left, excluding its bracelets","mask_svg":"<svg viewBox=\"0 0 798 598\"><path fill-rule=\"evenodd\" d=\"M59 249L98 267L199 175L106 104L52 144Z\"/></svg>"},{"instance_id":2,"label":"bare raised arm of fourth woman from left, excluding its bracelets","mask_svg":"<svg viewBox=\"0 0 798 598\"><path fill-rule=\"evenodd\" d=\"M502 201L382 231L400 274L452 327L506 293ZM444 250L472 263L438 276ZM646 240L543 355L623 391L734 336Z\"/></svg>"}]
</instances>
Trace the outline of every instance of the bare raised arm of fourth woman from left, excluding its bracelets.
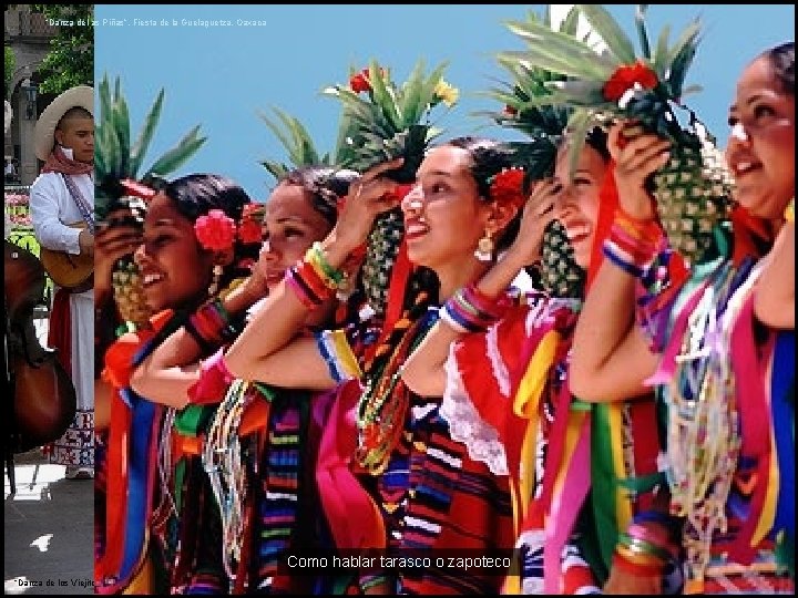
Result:
<instances>
[{"instance_id":1,"label":"bare raised arm of fourth woman from left, excluding its bracelets","mask_svg":"<svg viewBox=\"0 0 798 598\"><path fill-rule=\"evenodd\" d=\"M556 185L551 181L538 182L524 206L518 237L499 261L475 283L475 290L488 300L497 300L524 266L540 256L543 230L552 218ZM408 358L402 369L407 386L421 396L441 396L447 374L443 364L452 342L464 332L439 320L429 334Z\"/></svg>"}]
</instances>

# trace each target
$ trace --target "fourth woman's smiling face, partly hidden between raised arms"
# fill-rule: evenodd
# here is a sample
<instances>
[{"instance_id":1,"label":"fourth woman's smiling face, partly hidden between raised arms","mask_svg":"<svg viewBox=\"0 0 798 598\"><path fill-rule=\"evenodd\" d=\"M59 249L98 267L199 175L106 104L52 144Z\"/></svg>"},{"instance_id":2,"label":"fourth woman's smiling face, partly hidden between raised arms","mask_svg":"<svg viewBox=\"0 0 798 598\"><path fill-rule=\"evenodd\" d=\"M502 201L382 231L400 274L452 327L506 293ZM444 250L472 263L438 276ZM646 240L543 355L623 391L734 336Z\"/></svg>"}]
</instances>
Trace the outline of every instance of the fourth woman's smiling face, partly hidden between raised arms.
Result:
<instances>
[{"instance_id":1,"label":"fourth woman's smiling face, partly hidden between raised arms","mask_svg":"<svg viewBox=\"0 0 798 598\"><path fill-rule=\"evenodd\" d=\"M562 185L555 204L555 217L567 230L576 264L586 269L598 221L600 192L606 163L598 152L585 144L571 179L567 154L565 148L559 152L554 169L554 179Z\"/></svg>"}]
</instances>

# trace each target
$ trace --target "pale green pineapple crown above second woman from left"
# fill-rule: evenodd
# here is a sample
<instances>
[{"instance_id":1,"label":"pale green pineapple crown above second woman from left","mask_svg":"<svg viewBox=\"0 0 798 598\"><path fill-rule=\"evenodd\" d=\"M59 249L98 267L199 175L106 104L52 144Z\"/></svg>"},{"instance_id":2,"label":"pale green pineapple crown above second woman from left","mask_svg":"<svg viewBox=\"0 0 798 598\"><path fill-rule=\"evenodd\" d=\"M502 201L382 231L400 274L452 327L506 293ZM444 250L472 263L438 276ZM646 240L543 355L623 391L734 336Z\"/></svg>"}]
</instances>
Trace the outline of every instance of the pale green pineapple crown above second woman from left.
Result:
<instances>
[{"instance_id":1,"label":"pale green pineapple crown above second woman from left","mask_svg":"<svg viewBox=\"0 0 798 598\"><path fill-rule=\"evenodd\" d=\"M276 117L259 113L260 120L274 133L287 153L288 162L263 159L260 165L279 181L291 169L303 166L330 166L332 168L351 168L355 161L352 146L347 143L352 127L351 120L341 114L338 125L338 137L332 152L321 154L314 143L307 127L295 116L277 107L273 109Z\"/></svg>"}]
</instances>

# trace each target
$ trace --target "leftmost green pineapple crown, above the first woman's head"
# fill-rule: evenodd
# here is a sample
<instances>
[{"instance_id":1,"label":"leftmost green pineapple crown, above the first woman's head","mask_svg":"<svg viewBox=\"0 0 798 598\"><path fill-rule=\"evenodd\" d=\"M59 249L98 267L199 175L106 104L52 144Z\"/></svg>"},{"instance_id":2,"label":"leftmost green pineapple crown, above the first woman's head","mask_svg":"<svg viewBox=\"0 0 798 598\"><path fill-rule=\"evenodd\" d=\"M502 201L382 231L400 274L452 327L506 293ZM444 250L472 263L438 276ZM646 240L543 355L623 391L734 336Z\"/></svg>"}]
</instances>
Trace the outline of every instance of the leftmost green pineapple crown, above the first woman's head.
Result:
<instances>
[{"instance_id":1,"label":"leftmost green pineapple crown, above the first woman's head","mask_svg":"<svg viewBox=\"0 0 798 598\"><path fill-rule=\"evenodd\" d=\"M94 212L98 219L104 219L125 195L121 181L129 178L151 184L180 168L205 143L206 137L200 136L197 125L175 146L156 158L144 174L139 174L161 118L163 100L162 89L144 118L139 136L131 145L130 114L120 78L116 78L112 92L108 74L103 76L100 83L100 118L94 151Z\"/></svg>"}]
</instances>

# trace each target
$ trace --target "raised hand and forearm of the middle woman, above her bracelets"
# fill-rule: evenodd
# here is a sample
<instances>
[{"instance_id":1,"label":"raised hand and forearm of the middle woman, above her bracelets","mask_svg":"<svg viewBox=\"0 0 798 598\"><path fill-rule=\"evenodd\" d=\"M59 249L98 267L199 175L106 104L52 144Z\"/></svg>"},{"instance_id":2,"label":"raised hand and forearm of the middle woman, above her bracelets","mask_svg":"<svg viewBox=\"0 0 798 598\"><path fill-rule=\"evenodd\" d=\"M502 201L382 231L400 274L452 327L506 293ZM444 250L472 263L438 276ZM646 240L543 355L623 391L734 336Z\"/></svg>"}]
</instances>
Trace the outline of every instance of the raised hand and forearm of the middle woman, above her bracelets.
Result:
<instances>
[{"instance_id":1,"label":"raised hand and forearm of the middle woman, above her bracelets","mask_svg":"<svg viewBox=\"0 0 798 598\"><path fill-rule=\"evenodd\" d=\"M344 209L338 215L338 221L328 239L335 239L346 251L351 251L366 241L377 215L399 205L400 198L393 195L399 184L382 175L398 168L402 162L403 158L383 162L367 171L349 186Z\"/></svg>"}]
</instances>

